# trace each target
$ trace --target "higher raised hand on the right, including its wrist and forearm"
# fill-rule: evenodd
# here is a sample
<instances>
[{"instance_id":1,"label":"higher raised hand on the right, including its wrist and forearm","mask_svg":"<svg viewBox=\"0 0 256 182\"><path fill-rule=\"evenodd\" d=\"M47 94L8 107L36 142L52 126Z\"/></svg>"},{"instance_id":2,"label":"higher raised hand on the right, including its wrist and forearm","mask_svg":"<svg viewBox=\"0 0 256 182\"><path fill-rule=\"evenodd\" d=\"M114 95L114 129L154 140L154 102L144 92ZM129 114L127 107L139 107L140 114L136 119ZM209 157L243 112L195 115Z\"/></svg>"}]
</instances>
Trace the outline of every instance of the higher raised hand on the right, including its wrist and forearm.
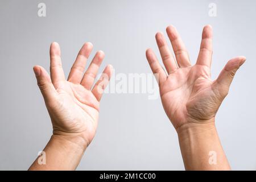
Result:
<instances>
[{"instance_id":1,"label":"higher raised hand on the right, including its wrist and forearm","mask_svg":"<svg viewBox=\"0 0 256 182\"><path fill-rule=\"evenodd\" d=\"M152 72L158 76L162 104L177 131L185 169L228 170L230 167L218 139L214 121L237 69L246 58L238 56L229 60L218 78L211 80L212 27L207 25L203 29L195 65L191 65L176 28L168 26L166 31L175 57L163 34L158 32L155 36L166 71L159 64L152 49L147 49L146 57ZM216 152L217 164L209 164L210 151Z\"/></svg>"}]
</instances>

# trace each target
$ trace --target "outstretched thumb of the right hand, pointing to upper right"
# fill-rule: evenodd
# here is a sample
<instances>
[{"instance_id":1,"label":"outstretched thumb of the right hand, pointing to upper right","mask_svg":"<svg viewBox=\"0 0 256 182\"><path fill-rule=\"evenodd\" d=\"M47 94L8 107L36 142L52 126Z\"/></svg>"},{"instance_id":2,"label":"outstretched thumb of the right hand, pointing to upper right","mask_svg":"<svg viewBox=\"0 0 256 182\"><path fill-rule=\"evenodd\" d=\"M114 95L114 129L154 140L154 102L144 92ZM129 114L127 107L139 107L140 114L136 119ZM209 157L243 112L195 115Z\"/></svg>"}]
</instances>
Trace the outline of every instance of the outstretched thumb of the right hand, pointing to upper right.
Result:
<instances>
[{"instance_id":1,"label":"outstretched thumb of the right hand, pointing to upper right","mask_svg":"<svg viewBox=\"0 0 256 182\"><path fill-rule=\"evenodd\" d=\"M240 68L243 63L245 63L245 60L245 56L239 56L229 60L217 78L218 86L229 88L237 69Z\"/></svg>"}]
</instances>

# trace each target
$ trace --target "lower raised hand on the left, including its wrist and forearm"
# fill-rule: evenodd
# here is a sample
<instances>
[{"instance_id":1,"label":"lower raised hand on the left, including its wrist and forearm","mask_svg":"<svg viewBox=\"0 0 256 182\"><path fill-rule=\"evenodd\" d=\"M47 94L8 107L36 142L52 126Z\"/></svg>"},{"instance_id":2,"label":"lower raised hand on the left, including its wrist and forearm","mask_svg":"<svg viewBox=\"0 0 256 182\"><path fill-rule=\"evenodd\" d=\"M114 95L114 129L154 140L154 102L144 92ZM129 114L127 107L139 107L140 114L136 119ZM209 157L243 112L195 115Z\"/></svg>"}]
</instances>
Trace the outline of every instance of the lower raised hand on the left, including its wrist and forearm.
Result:
<instances>
[{"instance_id":1,"label":"lower raised hand on the left, including its wrist and forearm","mask_svg":"<svg viewBox=\"0 0 256 182\"><path fill-rule=\"evenodd\" d=\"M33 68L52 121L53 134L44 148L46 164L40 165L36 159L30 170L76 169L92 142L98 125L101 96L113 72L112 65L107 65L93 86L104 52L96 53L84 73L92 48L92 43L82 46L67 80L61 65L60 47L55 42L50 47L51 76L38 65Z\"/></svg>"}]
</instances>

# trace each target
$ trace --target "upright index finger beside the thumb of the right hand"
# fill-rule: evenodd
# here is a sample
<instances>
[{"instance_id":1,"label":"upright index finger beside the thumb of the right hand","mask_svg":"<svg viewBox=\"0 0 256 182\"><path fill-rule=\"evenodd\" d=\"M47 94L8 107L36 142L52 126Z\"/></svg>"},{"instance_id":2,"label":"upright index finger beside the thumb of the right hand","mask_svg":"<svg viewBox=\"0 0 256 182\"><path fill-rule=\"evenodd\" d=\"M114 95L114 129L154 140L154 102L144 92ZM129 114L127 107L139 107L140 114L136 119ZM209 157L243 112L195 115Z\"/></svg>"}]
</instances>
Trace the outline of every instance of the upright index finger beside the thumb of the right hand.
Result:
<instances>
[{"instance_id":1,"label":"upright index finger beside the thumb of the right hand","mask_svg":"<svg viewBox=\"0 0 256 182\"><path fill-rule=\"evenodd\" d=\"M199 56L196 64L206 65L210 68L212 64L212 27L207 25L203 29Z\"/></svg>"}]
</instances>

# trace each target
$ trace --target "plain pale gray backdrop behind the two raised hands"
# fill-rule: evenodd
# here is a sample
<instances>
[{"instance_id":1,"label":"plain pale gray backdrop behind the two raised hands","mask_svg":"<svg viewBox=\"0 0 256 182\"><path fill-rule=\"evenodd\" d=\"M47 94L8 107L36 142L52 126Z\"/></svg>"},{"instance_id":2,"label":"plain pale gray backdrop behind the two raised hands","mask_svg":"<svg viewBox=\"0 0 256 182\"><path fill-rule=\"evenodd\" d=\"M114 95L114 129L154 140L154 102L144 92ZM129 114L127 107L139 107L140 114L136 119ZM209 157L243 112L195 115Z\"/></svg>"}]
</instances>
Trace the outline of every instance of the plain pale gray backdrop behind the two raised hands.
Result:
<instances>
[{"instance_id":1,"label":"plain pale gray backdrop behind the two raised hands","mask_svg":"<svg viewBox=\"0 0 256 182\"><path fill-rule=\"evenodd\" d=\"M38 3L47 16L38 17ZM208 5L217 4L217 17ZM49 68L59 42L66 76L86 41L104 50L116 73L151 73L145 50L159 56L154 35L174 24L195 63L201 31L214 31L212 78L226 61L247 57L216 125L233 169L256 169L256 1L0 1L0 169L27 169L51 136L51 121L32 66ZM166 33L164 32L166 35ZM167 37L167 36L166 36ZM92 56L91 56L92 57ZM103 67L102 67L103 68ZM102 69L101 69L102 71ZM96 137L78 169L184 169L177 135L160 99L105 94Z\"/></svg>"}]
</instances>

